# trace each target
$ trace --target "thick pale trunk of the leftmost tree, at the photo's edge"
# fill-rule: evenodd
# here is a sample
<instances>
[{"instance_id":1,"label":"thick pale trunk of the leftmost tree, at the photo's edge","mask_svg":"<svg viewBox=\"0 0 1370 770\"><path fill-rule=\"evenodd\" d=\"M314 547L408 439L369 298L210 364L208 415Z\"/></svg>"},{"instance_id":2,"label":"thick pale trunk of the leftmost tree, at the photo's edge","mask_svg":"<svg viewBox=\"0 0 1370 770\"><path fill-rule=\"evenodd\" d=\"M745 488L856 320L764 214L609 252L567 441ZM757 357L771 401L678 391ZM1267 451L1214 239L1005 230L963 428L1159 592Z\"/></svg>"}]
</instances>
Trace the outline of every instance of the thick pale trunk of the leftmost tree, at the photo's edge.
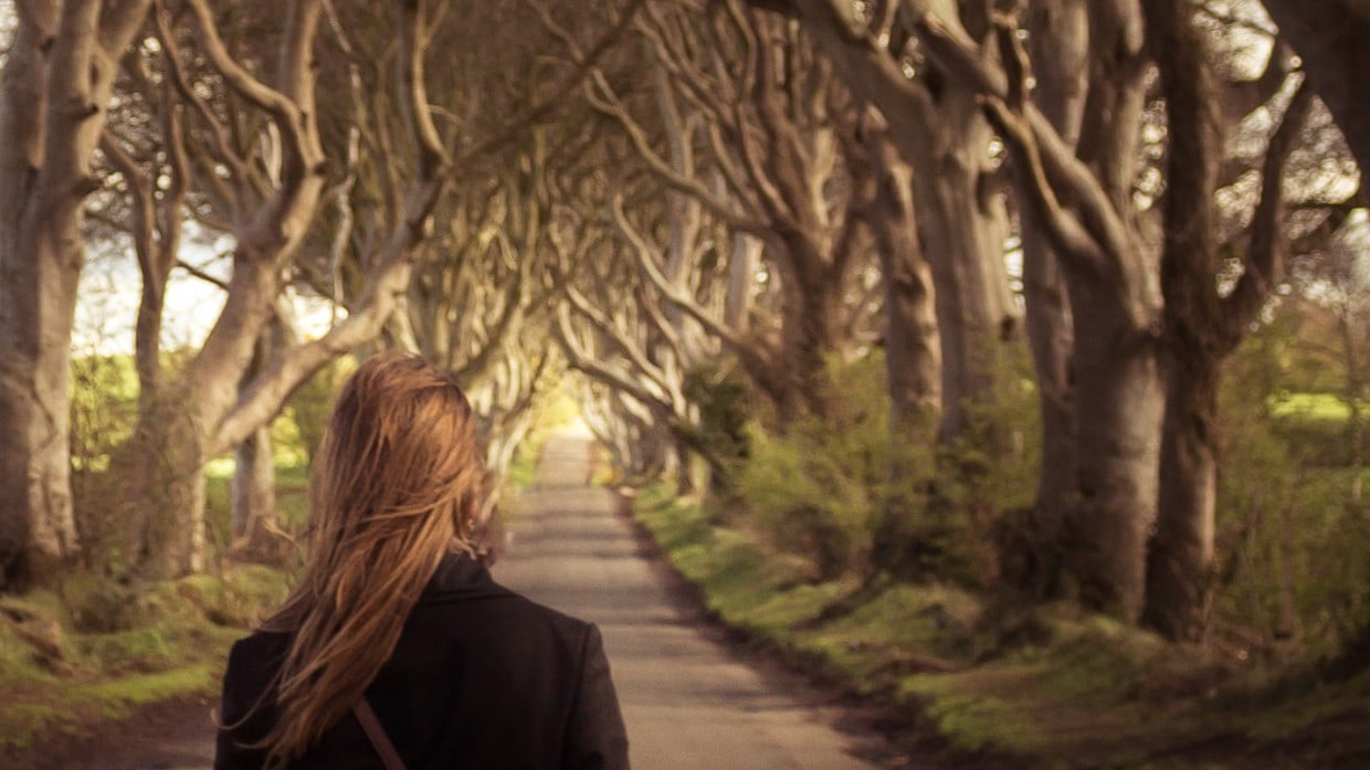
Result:
<instances>
[{"instance_id":1,"label":"thick pale trunk of the leftmost tree, at the photo's edge","mask_svg":"<svg viewBox=\"0 0 1370 770\"><path fill-rule=\"evenodd\" d=\"M116 60L149 0L16 5L0 92L0 589L42 582L78 549L70 355L82 207Z\"/></svg>"}]
</instances>

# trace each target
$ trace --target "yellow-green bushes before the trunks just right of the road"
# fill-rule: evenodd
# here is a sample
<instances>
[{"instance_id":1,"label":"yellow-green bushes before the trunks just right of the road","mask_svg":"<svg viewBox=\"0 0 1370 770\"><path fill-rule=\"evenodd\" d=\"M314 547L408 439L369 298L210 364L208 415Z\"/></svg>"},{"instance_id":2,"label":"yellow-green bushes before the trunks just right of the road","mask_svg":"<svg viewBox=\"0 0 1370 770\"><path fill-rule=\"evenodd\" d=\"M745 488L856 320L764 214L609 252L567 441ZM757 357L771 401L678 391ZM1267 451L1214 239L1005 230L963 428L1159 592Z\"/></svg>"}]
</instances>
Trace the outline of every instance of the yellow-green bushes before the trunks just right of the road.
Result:
<instances>
[{"instance_id":1,"label":"yellow-green bushes before the trunks just right of the road","mask_svg":"<svg viewBox=\"0 0 1370 770\"><path fill-rule=\"evenodd\" d=\"M748 427L737 497L822 577L875 570L984 584L995 521L1036 492L1041 429L1026 369L1015 360L991 397L967 406L967 430L938 447L934 415L892 427L878 351L832 364L826 419L800 418L782 434Z\"/></svg>"}]
</instances>

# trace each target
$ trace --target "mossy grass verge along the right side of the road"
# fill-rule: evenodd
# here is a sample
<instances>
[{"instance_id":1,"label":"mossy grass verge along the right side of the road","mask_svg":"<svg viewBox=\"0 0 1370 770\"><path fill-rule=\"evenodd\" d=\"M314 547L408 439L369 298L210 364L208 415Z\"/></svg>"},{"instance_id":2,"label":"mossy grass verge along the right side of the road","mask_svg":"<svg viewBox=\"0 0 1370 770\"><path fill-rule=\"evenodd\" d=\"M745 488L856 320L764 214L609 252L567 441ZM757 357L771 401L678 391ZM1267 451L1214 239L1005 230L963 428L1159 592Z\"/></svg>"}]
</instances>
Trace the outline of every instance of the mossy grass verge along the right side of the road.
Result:
<instances>
[{"instance_id":1,"label":"mossy grass verge along the right side of the road","mask_svg":"<svg viewBox=\"0 0 1370 770\"><path fill-rule=\"evenodd\" d=\"M936 733L948 765L1370 766L1367 671L1278 681L1066 604L986 612L977 595L943 585L814 582L808 564L662 488L634 508L723 622L900 710Z\"/></svg>"}]
</instances>

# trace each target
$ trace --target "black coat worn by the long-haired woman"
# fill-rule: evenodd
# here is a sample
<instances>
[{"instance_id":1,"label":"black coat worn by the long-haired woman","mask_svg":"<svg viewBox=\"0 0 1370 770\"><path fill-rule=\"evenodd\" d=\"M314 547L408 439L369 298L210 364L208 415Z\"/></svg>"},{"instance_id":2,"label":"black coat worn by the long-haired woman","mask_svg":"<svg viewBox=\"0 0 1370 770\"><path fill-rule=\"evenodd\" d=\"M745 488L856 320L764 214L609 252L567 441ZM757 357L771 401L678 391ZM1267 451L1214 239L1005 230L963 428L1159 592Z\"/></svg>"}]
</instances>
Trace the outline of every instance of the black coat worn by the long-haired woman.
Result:
<instances>
[{"instance_id":1,"label":"black coat worn by the long-haired woman","mask_svg":"<svg viewBox=\"0 0 1370 770\"><path fill-rule=\"evenodd\" d=\"M258 770L242 748L275 719L262 697L289 637L253 633L223 675L214 770ZM443 560L366 691L408 770L626 770L627 737L599 630L497 585L466 556ZM271 697L267 696L270 701ZM351 712L299 770L378 770Z\"/></svg>"}]
</instances>

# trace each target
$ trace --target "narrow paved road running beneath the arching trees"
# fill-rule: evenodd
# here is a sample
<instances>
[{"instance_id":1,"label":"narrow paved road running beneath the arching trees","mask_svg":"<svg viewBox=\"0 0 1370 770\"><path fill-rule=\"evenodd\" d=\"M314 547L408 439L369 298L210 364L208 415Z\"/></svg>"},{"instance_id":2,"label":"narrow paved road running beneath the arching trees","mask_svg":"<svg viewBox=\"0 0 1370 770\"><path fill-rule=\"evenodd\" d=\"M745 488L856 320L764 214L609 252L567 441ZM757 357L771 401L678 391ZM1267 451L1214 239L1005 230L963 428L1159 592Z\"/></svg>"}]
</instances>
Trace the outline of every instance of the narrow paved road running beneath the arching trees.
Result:
<instances>
[{"instance_id":1,"label":"narrow paved road running beneath the arching trees","mask_svg":"<svg viewBox=\"0 0 1370 770\"><path fill-rule=\"evenodd\" d=\"M611 492L588 436L553 437L495 578L600 626L638 770L874 770L803 688L777 682L682 614Z\"/></svg>"}]
</instances>

